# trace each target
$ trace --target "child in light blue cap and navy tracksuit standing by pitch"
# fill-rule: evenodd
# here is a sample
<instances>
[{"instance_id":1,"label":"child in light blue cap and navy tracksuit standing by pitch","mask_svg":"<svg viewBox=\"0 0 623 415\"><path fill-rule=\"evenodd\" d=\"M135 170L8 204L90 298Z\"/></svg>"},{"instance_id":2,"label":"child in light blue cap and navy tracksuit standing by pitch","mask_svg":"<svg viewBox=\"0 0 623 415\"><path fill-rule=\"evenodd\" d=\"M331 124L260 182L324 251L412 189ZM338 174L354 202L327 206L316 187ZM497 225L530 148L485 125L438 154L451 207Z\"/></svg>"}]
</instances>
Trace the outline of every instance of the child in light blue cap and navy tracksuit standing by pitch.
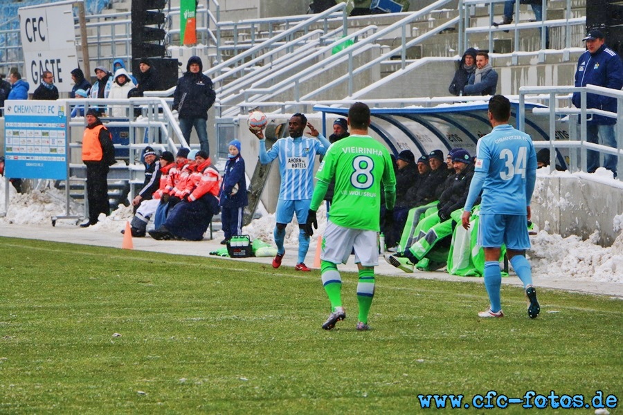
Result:
<instances>
[{"instance_id":1,"label":"child in light blue cap and navy tracksuit standing by pitch","mask_svg":"<svg viewBox=\"0 0 623 415\"><path fill-rule=\"evenodd\" d=\"M221 207L221 223L226 244L231 237L242 234L242 211L249 201L246 195L246 178L244 160L240 154L240 141L232 140L229 143L228 160L225 163L221 191L219 192L219 206Z\"/></svg>"}]
</instances>

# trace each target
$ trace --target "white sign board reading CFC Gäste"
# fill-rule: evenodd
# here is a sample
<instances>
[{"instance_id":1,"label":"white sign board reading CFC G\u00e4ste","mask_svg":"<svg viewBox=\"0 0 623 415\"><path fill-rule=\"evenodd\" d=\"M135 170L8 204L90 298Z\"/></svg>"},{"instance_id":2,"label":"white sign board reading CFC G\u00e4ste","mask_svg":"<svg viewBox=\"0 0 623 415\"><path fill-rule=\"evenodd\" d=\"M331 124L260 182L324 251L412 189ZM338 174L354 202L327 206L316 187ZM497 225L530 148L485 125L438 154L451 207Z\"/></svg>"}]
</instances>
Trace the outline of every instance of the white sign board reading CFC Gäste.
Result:
<instances>
[{"instance_id":1,"label":"white sign board reading CFC G\u00e4ste","mask_svg":"<svg viewBox=\"0 0 623 415\"><path fill-rule=\"evenodd\" d=\"M59 92L70 92L71 71L78 68L71 3L20 8L19 31L24 50L22 76L30 81L30 93L41 84L44 71L54 75Z\"/></svg>"}]
</instances>

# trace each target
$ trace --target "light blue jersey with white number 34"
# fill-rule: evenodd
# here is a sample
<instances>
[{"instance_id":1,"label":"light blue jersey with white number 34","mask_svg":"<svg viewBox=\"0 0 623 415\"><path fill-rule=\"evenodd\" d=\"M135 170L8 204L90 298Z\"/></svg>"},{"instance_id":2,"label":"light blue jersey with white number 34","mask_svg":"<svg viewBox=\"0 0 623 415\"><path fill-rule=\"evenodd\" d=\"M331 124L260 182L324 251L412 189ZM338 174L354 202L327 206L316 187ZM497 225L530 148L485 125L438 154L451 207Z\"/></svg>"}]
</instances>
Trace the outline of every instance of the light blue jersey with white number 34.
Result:
<instances>
[{"instance_id":1,"label":"light blue jersey with white number 34","mask_svg":"<svg viewBox=\"0 0 623 415\"><path fill-rule=\"evenodd\" d=\"M536 172L536 152L527 133L509 124L495 127L478 140L475 170L486 174L480 213L525 214L530 205L526 178Z\"/></svg>"}]
</instances>

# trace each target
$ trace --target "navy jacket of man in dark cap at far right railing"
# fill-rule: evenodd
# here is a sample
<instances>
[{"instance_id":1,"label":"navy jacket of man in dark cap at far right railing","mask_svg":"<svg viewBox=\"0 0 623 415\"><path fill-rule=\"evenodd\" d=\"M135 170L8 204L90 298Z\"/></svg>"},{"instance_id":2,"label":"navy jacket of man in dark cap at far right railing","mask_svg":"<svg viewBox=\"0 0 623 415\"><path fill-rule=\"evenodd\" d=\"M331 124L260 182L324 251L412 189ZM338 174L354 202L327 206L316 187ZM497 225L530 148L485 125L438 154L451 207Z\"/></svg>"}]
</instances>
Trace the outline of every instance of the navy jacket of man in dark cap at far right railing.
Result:
<instances>
[{"instance_id":1,"label":"navy jacket of man in dark cap at far right railing","mask_svg":"<svg viewBox=\"0 0 623 415\"><path fill-rule=\"evenodd\" d=\"M575 71L575 86L588 84L604 86L604 88L621 89L623 87L623 65L621 58L614 50L603 44L601 48L592 54L588 50L582 53L577 61ZM580 93L573 93L571 99L575 107L581 106ZM617 99L597 95L586 94L586 108L603 109L604 111L617 112ZM593 115L588 124L616 124L616 118Z\"/></svg>"}]
</instances>

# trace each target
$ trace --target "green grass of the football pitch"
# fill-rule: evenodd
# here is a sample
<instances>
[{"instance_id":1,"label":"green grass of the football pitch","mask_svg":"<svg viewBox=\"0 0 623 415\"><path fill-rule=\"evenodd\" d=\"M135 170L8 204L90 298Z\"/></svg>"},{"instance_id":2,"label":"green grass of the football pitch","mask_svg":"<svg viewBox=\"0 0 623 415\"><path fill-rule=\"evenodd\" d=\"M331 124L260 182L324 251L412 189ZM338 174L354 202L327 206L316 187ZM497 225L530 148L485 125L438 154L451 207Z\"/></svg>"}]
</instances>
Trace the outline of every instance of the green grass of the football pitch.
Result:
<instances>
[{"instance_id":1,"label":"green grass of the football pitch","mask_svg":"<svg viewBox=\"0 0 623 415\"><path fill-rule=\"evenodd\" d=\"M540 290L530 320L521 288L503 286L507 317L481 320L481 284L377 277L360 333L345 274L349 317L323 331L318 271L6 238L0 258L3 413L415 414L418 394L491 389L623 398L621 299Z\"/></svg>"}]
</instances>

